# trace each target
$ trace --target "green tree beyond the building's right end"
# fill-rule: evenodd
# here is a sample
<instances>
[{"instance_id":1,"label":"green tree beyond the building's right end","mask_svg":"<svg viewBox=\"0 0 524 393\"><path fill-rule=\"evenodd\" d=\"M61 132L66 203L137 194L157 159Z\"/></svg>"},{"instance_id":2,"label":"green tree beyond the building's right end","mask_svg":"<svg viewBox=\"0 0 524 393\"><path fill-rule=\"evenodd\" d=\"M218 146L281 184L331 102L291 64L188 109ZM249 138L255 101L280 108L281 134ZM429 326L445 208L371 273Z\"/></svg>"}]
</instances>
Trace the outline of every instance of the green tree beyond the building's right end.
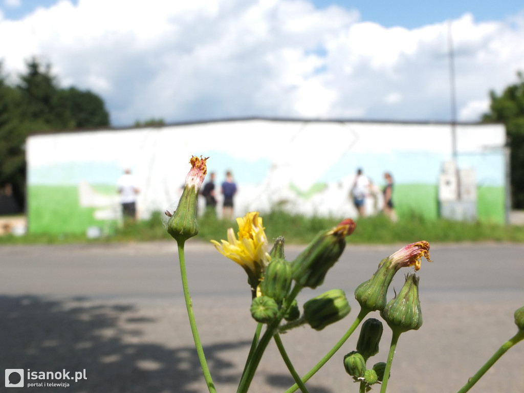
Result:
<instances>
[{"instance_id":1,"label":"green tree beyond the building's right end","mask_svg":"<svg viewBox=\"0 0 524 393\"><path fill-rule=\"evenodd\" d=\"M524 74L517 73L518 82L507 86L501 95L489 92L490 111L483 122L501 122L506 125L509 139L511 199L514 209L524 209Z\"/></svg>"}]
</instances>

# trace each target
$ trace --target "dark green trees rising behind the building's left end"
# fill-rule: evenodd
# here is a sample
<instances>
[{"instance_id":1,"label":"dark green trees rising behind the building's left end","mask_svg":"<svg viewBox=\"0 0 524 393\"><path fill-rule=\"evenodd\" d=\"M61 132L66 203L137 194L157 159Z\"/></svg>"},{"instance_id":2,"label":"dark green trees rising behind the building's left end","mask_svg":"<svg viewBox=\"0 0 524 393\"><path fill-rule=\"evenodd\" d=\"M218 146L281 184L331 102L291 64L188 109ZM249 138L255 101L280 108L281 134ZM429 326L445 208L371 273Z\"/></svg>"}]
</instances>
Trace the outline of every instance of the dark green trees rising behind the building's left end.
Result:
<instances>
[{"instance_id":1,"label":"dark green trees rising behind the building's left end","mask_svg":"<svg viewBox=\"0 0 524 393\"><path fill-rule=\"evenodd\" d=\"M56 129L109 124L102 99L89 91L60 89L49 64L27 63L19 83L9 86L0 63L0 189L10 184L18 205L25 205L25 140Z\"/></svg>"}]
</instances>

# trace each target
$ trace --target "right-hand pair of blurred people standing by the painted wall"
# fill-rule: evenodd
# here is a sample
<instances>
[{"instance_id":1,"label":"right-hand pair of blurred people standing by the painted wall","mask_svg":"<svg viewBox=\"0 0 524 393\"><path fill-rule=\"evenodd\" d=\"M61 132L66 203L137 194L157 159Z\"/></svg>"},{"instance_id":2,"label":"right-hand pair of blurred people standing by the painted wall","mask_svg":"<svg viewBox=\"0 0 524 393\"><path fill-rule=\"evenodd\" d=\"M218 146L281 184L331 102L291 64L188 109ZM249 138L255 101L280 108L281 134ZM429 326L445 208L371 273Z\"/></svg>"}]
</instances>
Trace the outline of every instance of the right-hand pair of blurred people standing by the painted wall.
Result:
<instances>
[{"instance_id":1,"label":"right-hand pair of blurred people standing by the painted wall","mask_svg":"<svg viewBox=\"0 0 524 393\"><path fill-rule=\"evenodd\" d=\"M386 181L386 185L382 190L384 196L382 211L387 217L389 217L391 221L396 221L397 216L395 213L395 206L393 204L393 177L391 176L391 173L384 173L384 180ZM351 193L353 196L353 203L355 204L360 217L366 216L366 197L371 192L372 183L364 175L362 169L359 168L356 173Z\"/></svg>"}]
</instances>

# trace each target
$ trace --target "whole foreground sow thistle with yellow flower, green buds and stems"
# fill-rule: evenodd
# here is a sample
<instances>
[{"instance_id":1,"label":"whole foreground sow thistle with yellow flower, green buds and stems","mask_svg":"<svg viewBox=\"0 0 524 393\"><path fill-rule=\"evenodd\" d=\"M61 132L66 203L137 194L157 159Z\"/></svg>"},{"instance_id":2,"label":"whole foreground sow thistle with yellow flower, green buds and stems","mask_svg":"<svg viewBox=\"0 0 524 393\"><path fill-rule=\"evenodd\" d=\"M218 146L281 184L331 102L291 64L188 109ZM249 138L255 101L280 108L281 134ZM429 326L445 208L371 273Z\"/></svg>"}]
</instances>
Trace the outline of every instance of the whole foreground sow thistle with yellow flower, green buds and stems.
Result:
<instances>
[{"instance_id":1,"label":"whole foreground sow thistle with yellow flower, green buds and stems","mask_svg":"<svg viewBox=\"0 0 524 393\"><path fill-rule=\"evenodd\" d=\"M196 203L207 171L208 158L191 157L189 161L191 169L185 179L178 206L174 211L167 209L162 221L168 233L178 244L182 288L190 327L202 372L212 393L216 392L216 389L193 315L184 256L185 241L198 234L199 230L196 223ZM355 231L356 225L353 220L346 219L333 228L321 231L297 258L288 261L284 253L283 237L275 239L275 244L269 250L263 219L258 212L249 212L245 217L236 219L236 222L238 224L236 234L233 228L229 228L227 240L220 242L213 240L212 243L220 254L235 261L246 272L252 297L250 313L257 322L237 393L245 393L249 390L258 364L271 341L275 341L295 381L295 384L285 393L298 389L307 393L305 383L340 350L361 323L355 350L341 356L341 371L345 370L357 383L355 390L358 389L362 393L377 386L376 390L380 389L380 392L384 393L391 375L391 365L400 335L410 330L418 330L422 326L419 300L420 277L414 272L420 269L422 258L431 261L429 243L420 241L408 244L380 261L372 277L355 289L355 299L360 305L360 310L353 323L332 349L320 358L308 373L300 376L290 361L280 334L305 324L310 325L314 330L322 330L330 324L341 321L350 313L350 304L341 289L331 289L308 300L302 305L302 311L296 298L303 288L316 288L322 285L329 269L344 252L346 237ZM413 273L406 274L402 289L388 301L388 288L395 274L401 268L411 266ZM373 365L370 358L379 353L384 326L378 319L365 319L372 311L380 313L392 332L386 362L379 361ZM467 380L459 393L470 390L500 356L524 339L524 307L515 311L514 318L518 328L515 336L505 342L486 364ZM264 326L265 331L262 334Z\"/></svg>"}]
</instances>

